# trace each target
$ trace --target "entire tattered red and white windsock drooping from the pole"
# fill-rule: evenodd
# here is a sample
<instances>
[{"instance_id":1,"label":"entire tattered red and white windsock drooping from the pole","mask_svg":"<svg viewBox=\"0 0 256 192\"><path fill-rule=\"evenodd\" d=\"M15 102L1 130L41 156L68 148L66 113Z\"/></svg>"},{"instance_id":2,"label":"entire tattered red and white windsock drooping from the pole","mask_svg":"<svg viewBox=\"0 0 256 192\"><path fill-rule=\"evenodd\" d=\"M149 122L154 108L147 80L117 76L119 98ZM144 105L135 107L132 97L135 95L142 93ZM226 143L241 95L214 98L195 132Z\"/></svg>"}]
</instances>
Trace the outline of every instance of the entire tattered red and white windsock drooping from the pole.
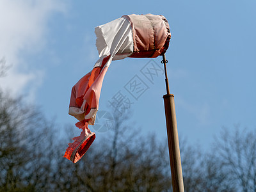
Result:
<instances>
[{"instance_id":1,"label":"entire tattered red and white windsock drooping from the pole","mask_svg":"<svg viewBox=\"0 0 256 192\"><path fill-rule=\"evenodd\" d=\"M92 71L72 88L68 114L79 120L81 135L68 144L64 157L76 163L95 140L90 131L99 109L102 81L112 60L156 58L168 49L171 38L169 24L163 15L124 15L95 28L99 60Z\"/></svg>"}]
</instances>

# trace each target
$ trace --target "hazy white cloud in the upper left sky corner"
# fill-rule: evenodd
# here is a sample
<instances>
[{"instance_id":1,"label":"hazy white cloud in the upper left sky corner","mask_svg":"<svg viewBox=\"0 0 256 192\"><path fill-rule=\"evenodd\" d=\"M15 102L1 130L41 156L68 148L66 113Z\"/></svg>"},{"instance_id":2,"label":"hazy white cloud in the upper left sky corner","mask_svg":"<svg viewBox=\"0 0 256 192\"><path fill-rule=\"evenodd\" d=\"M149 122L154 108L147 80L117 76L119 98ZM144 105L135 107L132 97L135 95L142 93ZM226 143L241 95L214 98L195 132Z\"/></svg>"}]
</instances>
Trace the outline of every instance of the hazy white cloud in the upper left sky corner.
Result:
<instances>
[{"instance_id":1,"label":"hazy white cloud in the upper left sky corner","mask_svg":"<svg viewBox=\"0 0 256 192\"><path fill-rule=\"evenodd\" d=\"M32 70L22 53L36 53L47 43L47 22L52 13L65 13L61 1L0 1L0 59L11 68L0 78L0 88L19 94L34 95L44 71ZM36 68L36 67L33 67Z\"/></svg>"}]
</instances>

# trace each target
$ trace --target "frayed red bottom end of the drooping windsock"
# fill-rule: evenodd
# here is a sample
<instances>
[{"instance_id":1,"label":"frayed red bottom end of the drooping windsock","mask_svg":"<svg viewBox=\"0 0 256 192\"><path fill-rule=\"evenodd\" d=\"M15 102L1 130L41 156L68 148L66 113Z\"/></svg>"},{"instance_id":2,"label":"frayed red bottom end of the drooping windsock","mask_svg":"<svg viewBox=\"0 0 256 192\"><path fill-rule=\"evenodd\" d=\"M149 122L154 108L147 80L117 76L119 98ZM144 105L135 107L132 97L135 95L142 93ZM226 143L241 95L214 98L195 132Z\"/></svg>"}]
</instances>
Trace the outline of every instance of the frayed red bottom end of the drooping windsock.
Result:
<instances>
[{"instance_id":1,"label":"frayed red bottom end of the drooping windsock","mask_svg":"<svg viewBox=\"0 0 256 192\"><path fill-rule=\"evenodd\" d=\"M78 122L76 126L82 129L80 136L73 138L73 143L68 143L68 148L63 157L72 161L73 163L77 163L79 159L81 159L88 148L92 145L95 140L95 132L91 132L88 128L88 122L85 120Z\"/></svg>"}]
</instances>

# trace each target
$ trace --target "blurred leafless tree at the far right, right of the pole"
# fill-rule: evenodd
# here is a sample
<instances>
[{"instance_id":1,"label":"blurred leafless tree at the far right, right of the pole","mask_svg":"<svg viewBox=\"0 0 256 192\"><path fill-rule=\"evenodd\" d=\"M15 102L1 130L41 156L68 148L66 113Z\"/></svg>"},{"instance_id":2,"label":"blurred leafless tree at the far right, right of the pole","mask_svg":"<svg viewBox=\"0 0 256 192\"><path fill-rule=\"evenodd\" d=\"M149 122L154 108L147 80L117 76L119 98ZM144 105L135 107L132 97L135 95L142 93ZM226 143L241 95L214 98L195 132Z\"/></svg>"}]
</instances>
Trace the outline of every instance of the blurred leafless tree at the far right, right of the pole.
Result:
<instances>
[{"instance_id":1,"label":"blurred leafless tree at the far right, right of the pole","mask_svg":"<svg viewBox=\"0 0 256 192\"><path fill-rule=\"evenodd\" d=\"M256 191L256 131L223 129L216 141L216 160L226 173L228 184L237 191Z\"/></svg>"}]
</instances>

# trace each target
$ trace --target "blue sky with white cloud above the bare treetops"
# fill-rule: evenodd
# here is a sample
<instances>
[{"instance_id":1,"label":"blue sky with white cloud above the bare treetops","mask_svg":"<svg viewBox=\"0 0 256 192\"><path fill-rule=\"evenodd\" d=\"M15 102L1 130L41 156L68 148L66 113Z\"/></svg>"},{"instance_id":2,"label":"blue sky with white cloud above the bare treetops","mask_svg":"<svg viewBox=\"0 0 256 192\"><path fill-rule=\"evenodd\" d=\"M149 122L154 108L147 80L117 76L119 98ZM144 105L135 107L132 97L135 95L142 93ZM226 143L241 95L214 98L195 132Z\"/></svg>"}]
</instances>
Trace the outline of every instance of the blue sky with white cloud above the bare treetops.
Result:
<instances>
[{"instance_id":1,"label":"blue sky with white cloud above the bare treetops","mask_svg":"<svg viewBox=\"0 0 256 192\"><path fill-rule=\"evenodd\" d=\"M75 124L68 115L70 91L97 61L94 28L122 15L161 14L172 33L166 59L179 135L207 147L223 126L256 127L255 6L255 1L1 0L0 59L11 68L0 87L26 95L58 124ZM162 66L160 57L113 61L99 110L109 111L109 100L120 91L132 102L131 127L161 140L166 137L164 76L150 82L140 72L152 62ZM125 90L135 76L148 87L138 100ZM104 134L97 132L97 140Z\"/></svg>"}]
</instances>

